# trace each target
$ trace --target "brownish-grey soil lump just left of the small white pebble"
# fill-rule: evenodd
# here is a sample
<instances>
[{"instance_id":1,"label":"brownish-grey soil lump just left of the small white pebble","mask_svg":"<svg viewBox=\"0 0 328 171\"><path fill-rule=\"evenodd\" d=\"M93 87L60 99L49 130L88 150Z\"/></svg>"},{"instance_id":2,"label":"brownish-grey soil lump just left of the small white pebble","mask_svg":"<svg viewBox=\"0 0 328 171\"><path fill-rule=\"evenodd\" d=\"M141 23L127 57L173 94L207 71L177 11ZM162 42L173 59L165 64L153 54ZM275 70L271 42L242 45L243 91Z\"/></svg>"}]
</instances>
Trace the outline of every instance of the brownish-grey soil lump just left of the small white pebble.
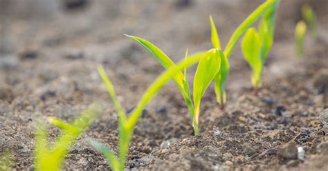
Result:
<instances>
[{"instance_id":1,"label":"brownish-grey soil lump just left of the small white pebble","mask_svg":"<svg viewBox=\"0 0 328 171\"><path fill-rule=\"evenodd\" d=\"M277 154L278 156L288 160L298 159L298 149L293 141L286 143L281 147L277 148Z\"/></svg>"}]
</instances>

